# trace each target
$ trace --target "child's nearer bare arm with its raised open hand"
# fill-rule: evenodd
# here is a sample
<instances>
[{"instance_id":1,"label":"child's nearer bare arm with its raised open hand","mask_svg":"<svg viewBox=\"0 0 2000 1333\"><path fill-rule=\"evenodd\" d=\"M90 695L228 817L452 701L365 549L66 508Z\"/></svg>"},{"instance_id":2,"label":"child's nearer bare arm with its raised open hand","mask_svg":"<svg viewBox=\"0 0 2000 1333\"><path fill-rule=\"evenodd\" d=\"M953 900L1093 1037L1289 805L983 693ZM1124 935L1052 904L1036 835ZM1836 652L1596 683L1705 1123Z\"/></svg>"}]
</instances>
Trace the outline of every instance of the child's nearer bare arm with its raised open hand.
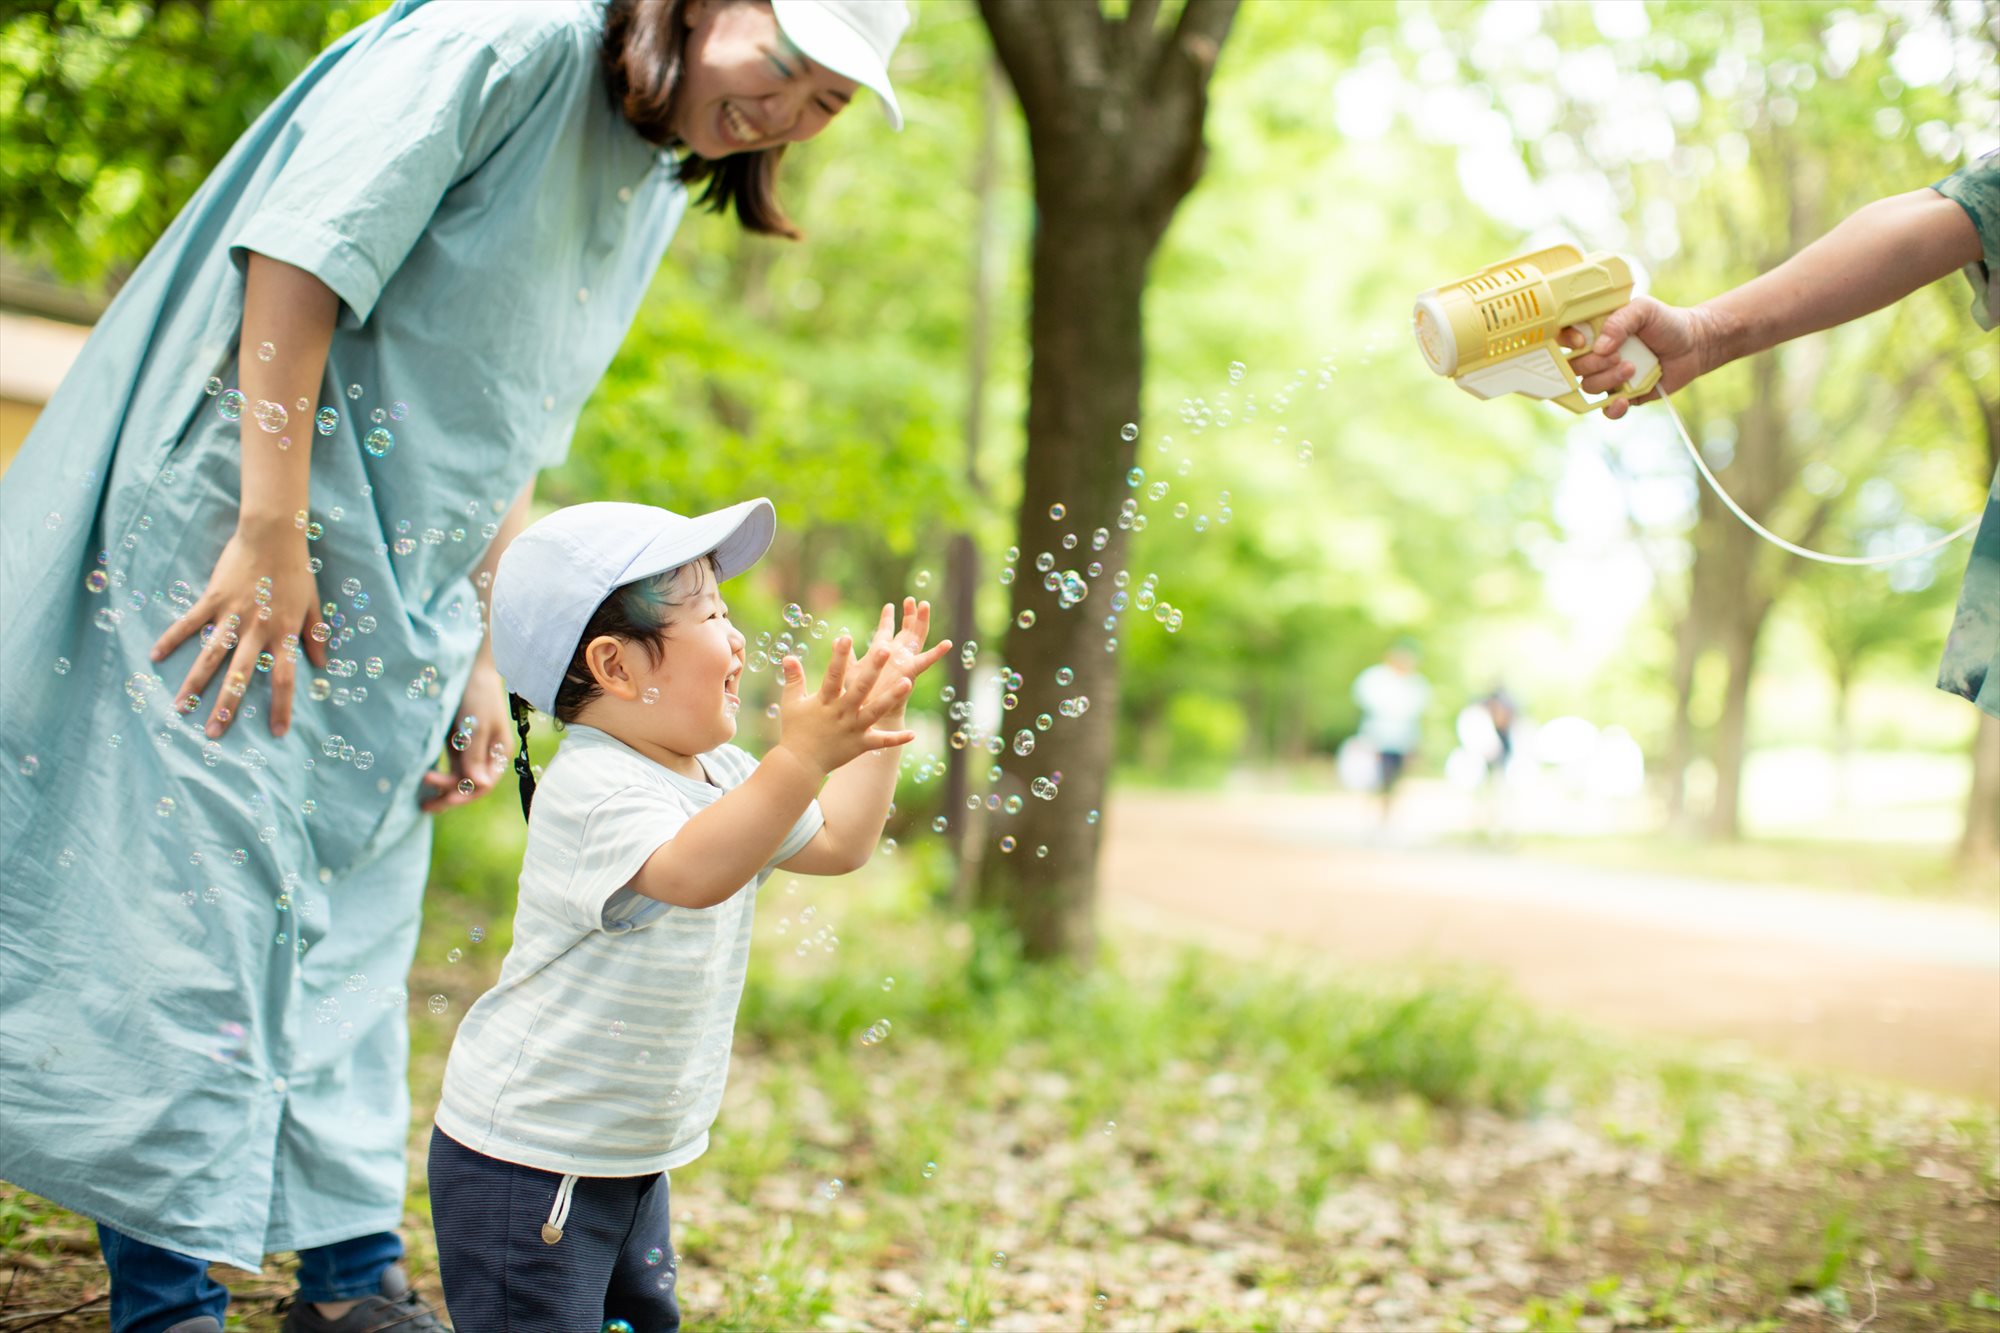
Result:
<instances>
[{"instance_id":1,"label":"child's nearer bare arm with its raised open hand","mask_svg":"<svg viewBox=\"0 0 2000 1333\"><path fill-rule=\"evenodd\" d=\"M714 907L756 877L784 845L826 775L870 751L904 745L908 731L876 727L902 717L908 679L878 689L888 644L876 644L852 664L850 640L834 642L834 660L820 689L806 693L806 671L784 658L780 699L782 739L740 787L724 793L654 851L632 889L674 907ZM894 775L894 761L890 761Z\"/></svg>"}]
</instances>

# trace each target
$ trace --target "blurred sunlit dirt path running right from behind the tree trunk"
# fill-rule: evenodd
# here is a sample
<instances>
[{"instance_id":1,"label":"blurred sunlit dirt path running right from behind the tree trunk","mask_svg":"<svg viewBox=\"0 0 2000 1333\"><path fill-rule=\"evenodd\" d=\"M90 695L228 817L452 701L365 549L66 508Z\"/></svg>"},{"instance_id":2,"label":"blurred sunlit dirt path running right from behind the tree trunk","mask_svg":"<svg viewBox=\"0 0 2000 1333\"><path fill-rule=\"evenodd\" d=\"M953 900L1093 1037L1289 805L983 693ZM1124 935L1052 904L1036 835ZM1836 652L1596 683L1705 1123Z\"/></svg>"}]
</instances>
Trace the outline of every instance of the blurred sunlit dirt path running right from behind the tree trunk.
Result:
<instances>
[{"instance_id":1,"label":"blurred sunlit dirt path running right from behind the tree trunk","mask_svg":"<svg viewBox=\"0 0 2000 1333\"><path fill-rule=\"evenodd\" d=\"M1326 797L1120 797L1112 921L1256 957L1496 969L1610 1029L2000 1101L2000 917L1344 839Z\"/></svg>"}]
</instances>

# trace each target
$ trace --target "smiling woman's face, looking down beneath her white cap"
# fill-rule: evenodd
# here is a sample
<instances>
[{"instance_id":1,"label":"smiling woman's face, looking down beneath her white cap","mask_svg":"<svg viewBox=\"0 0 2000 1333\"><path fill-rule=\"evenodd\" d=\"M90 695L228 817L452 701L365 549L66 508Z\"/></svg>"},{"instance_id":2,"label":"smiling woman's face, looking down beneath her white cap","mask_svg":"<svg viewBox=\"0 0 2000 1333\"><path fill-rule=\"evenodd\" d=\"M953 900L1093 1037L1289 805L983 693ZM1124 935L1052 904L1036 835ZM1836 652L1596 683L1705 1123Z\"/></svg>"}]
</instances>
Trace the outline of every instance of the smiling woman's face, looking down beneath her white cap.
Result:
<instances>
[{"instance_id":1,"label":"smiling woman's face, looking down beneath her white cap","mask_svg":"<svg viewBox=\"0 0 2000 1333\"><path fill-rule=\"evenodd\" d=\"M860 88L792 46L762 0L694 0L686 22L674 134L696 156L804 142Z\"/></svg>"}]
</instances>

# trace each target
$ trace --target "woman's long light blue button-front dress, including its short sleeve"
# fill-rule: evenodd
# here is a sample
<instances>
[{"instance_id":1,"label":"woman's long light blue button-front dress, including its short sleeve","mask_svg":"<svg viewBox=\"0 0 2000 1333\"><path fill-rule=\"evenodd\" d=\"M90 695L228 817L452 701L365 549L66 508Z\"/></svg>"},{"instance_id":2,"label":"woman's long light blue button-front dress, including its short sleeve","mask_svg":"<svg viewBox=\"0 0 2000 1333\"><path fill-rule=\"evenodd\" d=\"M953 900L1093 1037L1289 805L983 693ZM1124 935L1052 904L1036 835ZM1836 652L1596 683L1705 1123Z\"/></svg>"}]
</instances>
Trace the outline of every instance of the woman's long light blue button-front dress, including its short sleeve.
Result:
<instances>
[{"instance_id":1,"label":"woman's long light blue button-front dress, including its short sleeve","mask_svg":"<svg viewBox=\"0 0 2000 1333\"><path fill-rule=\"evenodd\" d=\"M332 46L0 484L0 1177L248 1269L402 1221L420 777L480 642L470 572L686 206L600 32L588 0L416 0ZM206 743L170 709L196 644L146 652L234 528L238 424L204 382L236 382L250 250L342 302L314 404L340 420L286 430L334 666L302 664L284 739L246 707Z\"/></svg>"}]
</instances>

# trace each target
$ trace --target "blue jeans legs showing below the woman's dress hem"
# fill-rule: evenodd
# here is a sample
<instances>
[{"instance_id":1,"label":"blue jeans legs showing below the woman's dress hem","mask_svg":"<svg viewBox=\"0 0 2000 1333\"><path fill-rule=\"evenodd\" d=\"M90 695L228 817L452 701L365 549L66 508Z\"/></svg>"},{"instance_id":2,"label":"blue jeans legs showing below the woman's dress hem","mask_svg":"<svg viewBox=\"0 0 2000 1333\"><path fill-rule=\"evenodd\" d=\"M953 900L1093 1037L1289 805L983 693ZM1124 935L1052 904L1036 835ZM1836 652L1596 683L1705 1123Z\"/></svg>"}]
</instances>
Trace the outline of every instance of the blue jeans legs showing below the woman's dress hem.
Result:
<instances>
[{"instance_id":1,"label":"blue jeans legs showing below the woman's dress hem","mask_svg":"<svg viewBox=\"0 0 2000 1333\"><path fill-rule=\"evenodd\" d=\"M112 1333L164 1333L208 1315L218 1325L230 1291L208 1277L208 1261L134 1241L98 1225L98 1247L112 1275ZM300 1301L356 1301L382 1289L382 1273L402 1259L390 1231L298 1251Z\"/></svg>"}]
</instances>

